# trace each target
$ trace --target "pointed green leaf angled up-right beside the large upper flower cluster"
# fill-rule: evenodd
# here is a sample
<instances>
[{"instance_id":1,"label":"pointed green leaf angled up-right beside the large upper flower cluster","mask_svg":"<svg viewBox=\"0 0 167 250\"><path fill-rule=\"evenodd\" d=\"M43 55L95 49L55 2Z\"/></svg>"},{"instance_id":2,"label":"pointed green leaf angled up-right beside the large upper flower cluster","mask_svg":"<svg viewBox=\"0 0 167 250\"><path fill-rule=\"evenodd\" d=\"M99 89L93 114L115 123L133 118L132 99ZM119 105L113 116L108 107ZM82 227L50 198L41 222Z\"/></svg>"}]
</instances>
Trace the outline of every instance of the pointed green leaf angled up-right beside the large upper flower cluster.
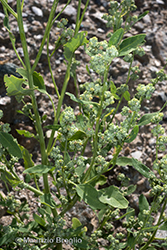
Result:
<instances>
[{"instance_id":1,"label":"pointed green leaf angled up-right beside the large upper flower cluster","mask_svg":"<svg viewBox=\"0 0 167 250\"><path fill-rule=\"evenodd\" d=\"M145 36L145 34L139 34L123 40L119 46L119 56L128 55L135 50L144 41Z\"/></svg>"}]
</instances>

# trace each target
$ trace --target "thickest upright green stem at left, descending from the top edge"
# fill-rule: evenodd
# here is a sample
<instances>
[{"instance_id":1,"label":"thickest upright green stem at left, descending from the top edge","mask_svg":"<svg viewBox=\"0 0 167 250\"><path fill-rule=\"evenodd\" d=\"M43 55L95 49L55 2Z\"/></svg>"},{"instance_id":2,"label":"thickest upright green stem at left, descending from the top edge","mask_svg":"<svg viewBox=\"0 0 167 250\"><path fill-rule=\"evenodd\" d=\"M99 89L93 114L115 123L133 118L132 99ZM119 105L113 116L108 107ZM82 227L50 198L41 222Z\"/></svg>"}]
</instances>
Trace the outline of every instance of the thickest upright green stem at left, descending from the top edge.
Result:
<instances>
[{"instance_id":1,"label":"thickest upright green stem at left, descending from the top edge","mask_svg":"<svg viewBox=\"0 0 167 250\"><path fill-rule=\"evenodd\" d=\"M20 39L21 39L21 43L22 43L22 47L23 47L25 64L26 64L26 69L27 69L29 88L33 89L33 87L34 87L33 76L32 76L33 70L31 70L31 65L30 65L30 59L29 59L29 54L28 54L28 49L27 49L27 42L26 42L26 37L25 37L25 32L24 32L24 27L23 27L21 3L19 0L17 0L17 14L18 14L18 26L19 26L19 31L20 31ZM37 133L39 135L42 164L47 165L47 154L46 154L46 150L45 150L44 134L43 134L42 126L41 126L41 121L40 121L40 116L39 116L39 112L38 112L38 107L37 107L37 102L36 102L34 91L32 91L31 100L32 100L33 111L35 114L35 121L36 121L35 125L37 128ZM47 173L43 174L43 181L44 181L44 192L49 193L50 191L49 191Z\"/></svg>"}]
</instances>

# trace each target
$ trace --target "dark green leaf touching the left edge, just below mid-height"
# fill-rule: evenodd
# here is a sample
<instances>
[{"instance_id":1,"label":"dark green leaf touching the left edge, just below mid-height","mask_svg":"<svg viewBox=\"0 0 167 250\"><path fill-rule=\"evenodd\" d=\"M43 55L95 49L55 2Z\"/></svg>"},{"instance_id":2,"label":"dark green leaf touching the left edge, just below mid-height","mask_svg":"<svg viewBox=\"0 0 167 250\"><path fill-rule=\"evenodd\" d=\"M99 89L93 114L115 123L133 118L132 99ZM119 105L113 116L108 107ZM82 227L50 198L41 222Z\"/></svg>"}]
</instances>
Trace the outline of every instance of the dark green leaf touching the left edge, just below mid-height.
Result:
<instances>
[{"instance_id":1,"label":"dark green leaf touching the left edge, just below mid-height","mask_svg":"<svg viewBox=\"0 0 167 250\"><path fill-rule=\"evenodd\" d=\"M8 150L9 154L16 156L18 158L22 158L21 150L14 138L5 132L0 132L0 143L2 146Z\"/></svg>"}]
</instances>

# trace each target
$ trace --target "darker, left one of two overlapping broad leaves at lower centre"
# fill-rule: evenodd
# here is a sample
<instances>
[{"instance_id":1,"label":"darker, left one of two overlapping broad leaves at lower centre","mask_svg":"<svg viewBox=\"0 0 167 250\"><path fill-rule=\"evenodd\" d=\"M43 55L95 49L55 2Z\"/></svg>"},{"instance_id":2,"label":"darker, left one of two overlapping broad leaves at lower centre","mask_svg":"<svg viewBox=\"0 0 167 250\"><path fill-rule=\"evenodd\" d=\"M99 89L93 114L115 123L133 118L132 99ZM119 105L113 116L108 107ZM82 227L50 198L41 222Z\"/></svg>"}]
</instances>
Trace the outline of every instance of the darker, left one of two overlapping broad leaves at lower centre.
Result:
<instances>
[{"instance_id":1,"label":"darker, left one of two overlapping broad leaves at lower centre","mask_svg":"<svg viewBox=\"0 0 167 250\"><path fill-rule=\"evenodd\" d=\"M92 209L102 209L106 206L99 201L98 191L90 184L76 185L77 194L83 199Z\"/></svg>"}]
</instances>

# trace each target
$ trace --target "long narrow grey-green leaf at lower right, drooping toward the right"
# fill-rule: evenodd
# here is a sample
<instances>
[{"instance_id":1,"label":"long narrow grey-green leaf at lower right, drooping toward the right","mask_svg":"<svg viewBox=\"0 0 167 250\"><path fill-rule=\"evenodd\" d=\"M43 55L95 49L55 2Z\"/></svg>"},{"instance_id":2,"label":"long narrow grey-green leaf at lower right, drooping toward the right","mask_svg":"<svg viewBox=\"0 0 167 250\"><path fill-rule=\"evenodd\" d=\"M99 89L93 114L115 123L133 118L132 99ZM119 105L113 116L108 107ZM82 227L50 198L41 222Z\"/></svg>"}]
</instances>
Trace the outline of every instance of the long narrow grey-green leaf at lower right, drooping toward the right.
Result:
<instances>
[{"instance_id":1,"label":"long narrow grey-green leaf at lower right, drooping toward the right","mask_svg":"<svg viewBox=\"0 0 167 250\"><path fill-rule=\"evenodd\" d=\"M142 164L140 161L134 158L128 158L125 156L117 158L116 161L117 165L119 166L133 166L139 173L141 173L146 178L150 177L150 174L154 175L154 173L144 164Z\"/></svg>"}]
</instances>

